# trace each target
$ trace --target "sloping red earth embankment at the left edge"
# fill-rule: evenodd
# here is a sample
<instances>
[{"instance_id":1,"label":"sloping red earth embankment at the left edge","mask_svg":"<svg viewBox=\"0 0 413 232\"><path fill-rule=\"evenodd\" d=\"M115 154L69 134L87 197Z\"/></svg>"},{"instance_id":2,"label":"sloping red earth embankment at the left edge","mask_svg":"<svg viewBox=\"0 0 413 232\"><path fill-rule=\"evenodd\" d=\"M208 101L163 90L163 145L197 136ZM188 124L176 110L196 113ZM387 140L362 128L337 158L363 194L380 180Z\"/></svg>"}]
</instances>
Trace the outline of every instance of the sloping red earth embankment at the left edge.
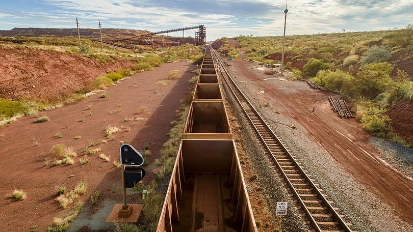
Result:
<instances>
[{"instance_id":1,"label":"sloping red earth embankment at the left edge","mask_svg":"<svg viewBox=\"0 0 413 232\"><path fill-rule=\"evenodd\" d=\"M96 76L133 62L100 64L94 59L56 51L0 46L0 98L62 100Z\"/></svg>"}]
</instances>

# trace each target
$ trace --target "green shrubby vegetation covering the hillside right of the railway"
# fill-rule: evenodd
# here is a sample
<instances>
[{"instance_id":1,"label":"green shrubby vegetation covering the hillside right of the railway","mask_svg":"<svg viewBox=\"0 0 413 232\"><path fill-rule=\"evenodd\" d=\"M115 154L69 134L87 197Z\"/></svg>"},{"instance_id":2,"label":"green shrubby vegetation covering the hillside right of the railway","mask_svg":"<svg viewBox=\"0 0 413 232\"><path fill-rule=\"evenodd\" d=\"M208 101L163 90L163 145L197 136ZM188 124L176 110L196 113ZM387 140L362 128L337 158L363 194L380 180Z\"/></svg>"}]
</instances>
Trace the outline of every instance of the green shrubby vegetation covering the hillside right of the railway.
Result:
<instances>
[{"instance_id":1,"label":"green shrubby vegetation covering the hillside right of the railway","mask_svg":"<svg viewBox=\"0 0 413 232\"><path fill-rule=\"evenodd\" d=\"M231 48L222 38L221 50L242 49L247 60L280 62L282 37L241 35L236 39L238 47ZM413 98L407 74L394 70L400 61L413 58L412 44L411 24L402 30L287 36L286 68L293 73L291 79L312 78L350 99L367 131L402 141L393 132L386 110L397 101Z\"/></svg>"}]
</instances>

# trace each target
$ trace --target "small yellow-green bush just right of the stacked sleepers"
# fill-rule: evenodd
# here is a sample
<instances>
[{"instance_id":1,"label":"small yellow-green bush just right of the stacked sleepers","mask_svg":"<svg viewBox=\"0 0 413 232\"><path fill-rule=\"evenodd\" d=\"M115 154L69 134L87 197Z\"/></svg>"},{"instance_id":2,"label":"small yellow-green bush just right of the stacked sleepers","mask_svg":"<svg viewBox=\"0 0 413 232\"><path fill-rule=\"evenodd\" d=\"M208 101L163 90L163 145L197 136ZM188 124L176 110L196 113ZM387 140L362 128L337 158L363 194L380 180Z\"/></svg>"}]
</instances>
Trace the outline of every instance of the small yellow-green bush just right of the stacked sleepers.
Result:
<instances>
[{"instance_id":1,"label":"small yellow-green bush just right of the stacked sleepers","mask_svg":"<svg viewBox=\"0 0 413 232\"><path fill-rule=\"evenodd\" d=\"M385 114L385 110L379 109L372 104L364 110L360 122L362 122L365 130L381 137L391 130L391 120L389 116Z\"/></svg>"}]
</instances>

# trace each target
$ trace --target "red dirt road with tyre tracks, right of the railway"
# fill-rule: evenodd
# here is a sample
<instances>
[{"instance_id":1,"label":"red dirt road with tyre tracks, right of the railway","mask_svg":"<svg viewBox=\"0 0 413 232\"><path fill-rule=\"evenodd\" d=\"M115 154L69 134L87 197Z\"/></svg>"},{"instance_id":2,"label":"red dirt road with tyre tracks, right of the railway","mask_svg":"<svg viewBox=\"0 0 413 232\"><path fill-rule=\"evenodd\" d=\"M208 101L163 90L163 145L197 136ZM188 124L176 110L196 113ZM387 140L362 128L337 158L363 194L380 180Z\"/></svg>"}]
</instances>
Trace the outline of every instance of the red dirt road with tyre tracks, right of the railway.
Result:
<instances>
[{"instance_id":1,"label":"red dirt road with tyre tracks, right of the railway","mask_svg":"<svg viewBox=\"0 0 413 232\"><path fill-rule=\"evenodd\" d=\"M310 89L300 81L270 81L252 63L239 57L234 74L256 91L264 90L270 105L306 129L321 146L368 190L386 202L395 214L413 223L413 180L382 160L368 140L371 136L355 119L341 119L333 113L328 94ZM313 106L315 111L311 113ZM396 191L397 190L397 191Z\"/></svg>"}]
</instances>

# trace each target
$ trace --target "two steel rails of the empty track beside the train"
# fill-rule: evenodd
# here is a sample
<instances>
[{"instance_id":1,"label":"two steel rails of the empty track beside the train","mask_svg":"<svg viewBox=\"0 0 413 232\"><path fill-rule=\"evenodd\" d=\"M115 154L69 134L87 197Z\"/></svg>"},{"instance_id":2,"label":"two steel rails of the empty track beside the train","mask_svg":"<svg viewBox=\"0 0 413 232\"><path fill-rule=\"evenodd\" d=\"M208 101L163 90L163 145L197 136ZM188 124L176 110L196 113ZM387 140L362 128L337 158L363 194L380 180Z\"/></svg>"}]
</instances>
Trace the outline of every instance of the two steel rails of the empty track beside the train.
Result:
<instances>
[{"instance_id":1,"label":"two steel rails of the empty track beside the train","mask_svg":"<svg viewBox=\"0 0 413 232\"><path fill-rule=\"evenodd\" d=\"M213 49L212 53L214 54L213 57L215 58L214 60L217 61L217 69L220 71L219 73L221 73L221 78L226 82L229 90L232 92L232 94L234 95L234 97L237 99L239 105L241 106L242 110L244 111L245 115L247 116L247 118L249 119L249 122L252 124L252 127L254 128L254 130L258 133L259 137L261 138L261 140L264 143L265 148L267 149L267 151L271 154L271 158L273 159L273 161L275 162L276 166L278 167L278 169L280 170L280 172L282 173L282 176L285 178L285 180L287 181L287 183L289 184L290 188L292 189L294 195L296 196L296 198L298 199L300 205L303 207L304 212L306 213L308 219L310 220L310 222L312 223L314 229L316 231L323 231L319 224L318 221L313 217L312 213L309 212L307 206L304 204L303 199L301 198L300 194L297 192L296 187L293 185L293 183L290 181L290 178L288 177L288 175L286 174L284 168L281 166L281 164L278 162L277 158L275 157L273 151L271 150L271 148L269 147L269 144L267 143L267 141L264 139L264 136L262 135L262 132L260 132L260 130L256 127L257 123L254 123L254 121L251 119L250 114L247 109L245 109L245 106L249 107L250 112L252 112L253 116L255 118L257 118L262 125L264 125L264 127L267 129L267 133L269 133L278 143L279 147L281 147L282 151L288 156L289 159L291 159L293 161L293 163L295 164L295 168L297 168L301 175L305 178L305 181L309 183L309 186L311 186L311 188L317 193L317 197L321 198L322 203L327 206L328 210L330 211L330 213L333 215L333 217L338 221L338 223L340 224L340 226L344 229L344 231L351 231L351 229L348 227L348 225L346 224L346 222L340 217L340 215L337 213L337 211L334 210L334 208L331 206L331 204L329 203L329 201L325 198L325 196L321 193L320 189L316 186L316 184L307 176L307 174L305 173L305 171L302 169L302 167L298 164L298 162L295 160L294 156L287 150L287 148L285 147L285 145L280 141L280 139L278 138L278 136L273 132L273 130L268 126L268 124L266 123L266 121L261 117L260 113L255 109L255 107L249 102L248 98L244 95L244 93L242 93L241 89L239 88L239 86L235 83L235 81L233 80L233 78L231 77L231 75L228 73L228 71L225 69L225 67L223 66L219 55L216 53L216 51L214 51ZM222 70L224 70L226 76L228 78L224 77L224 73L222 72ZM229 84L228 80L229 79L231 81L231 83L235 86L236 91L241 95L241 97L243 98L244 101L244 105L242 103L242 101L238 98L237 94L235 93L234 89L231 88L231 85ZM268 139L267 139L268 140ZM332 218L332 217L331 217Z\"/></svg>"}]
</instances>

